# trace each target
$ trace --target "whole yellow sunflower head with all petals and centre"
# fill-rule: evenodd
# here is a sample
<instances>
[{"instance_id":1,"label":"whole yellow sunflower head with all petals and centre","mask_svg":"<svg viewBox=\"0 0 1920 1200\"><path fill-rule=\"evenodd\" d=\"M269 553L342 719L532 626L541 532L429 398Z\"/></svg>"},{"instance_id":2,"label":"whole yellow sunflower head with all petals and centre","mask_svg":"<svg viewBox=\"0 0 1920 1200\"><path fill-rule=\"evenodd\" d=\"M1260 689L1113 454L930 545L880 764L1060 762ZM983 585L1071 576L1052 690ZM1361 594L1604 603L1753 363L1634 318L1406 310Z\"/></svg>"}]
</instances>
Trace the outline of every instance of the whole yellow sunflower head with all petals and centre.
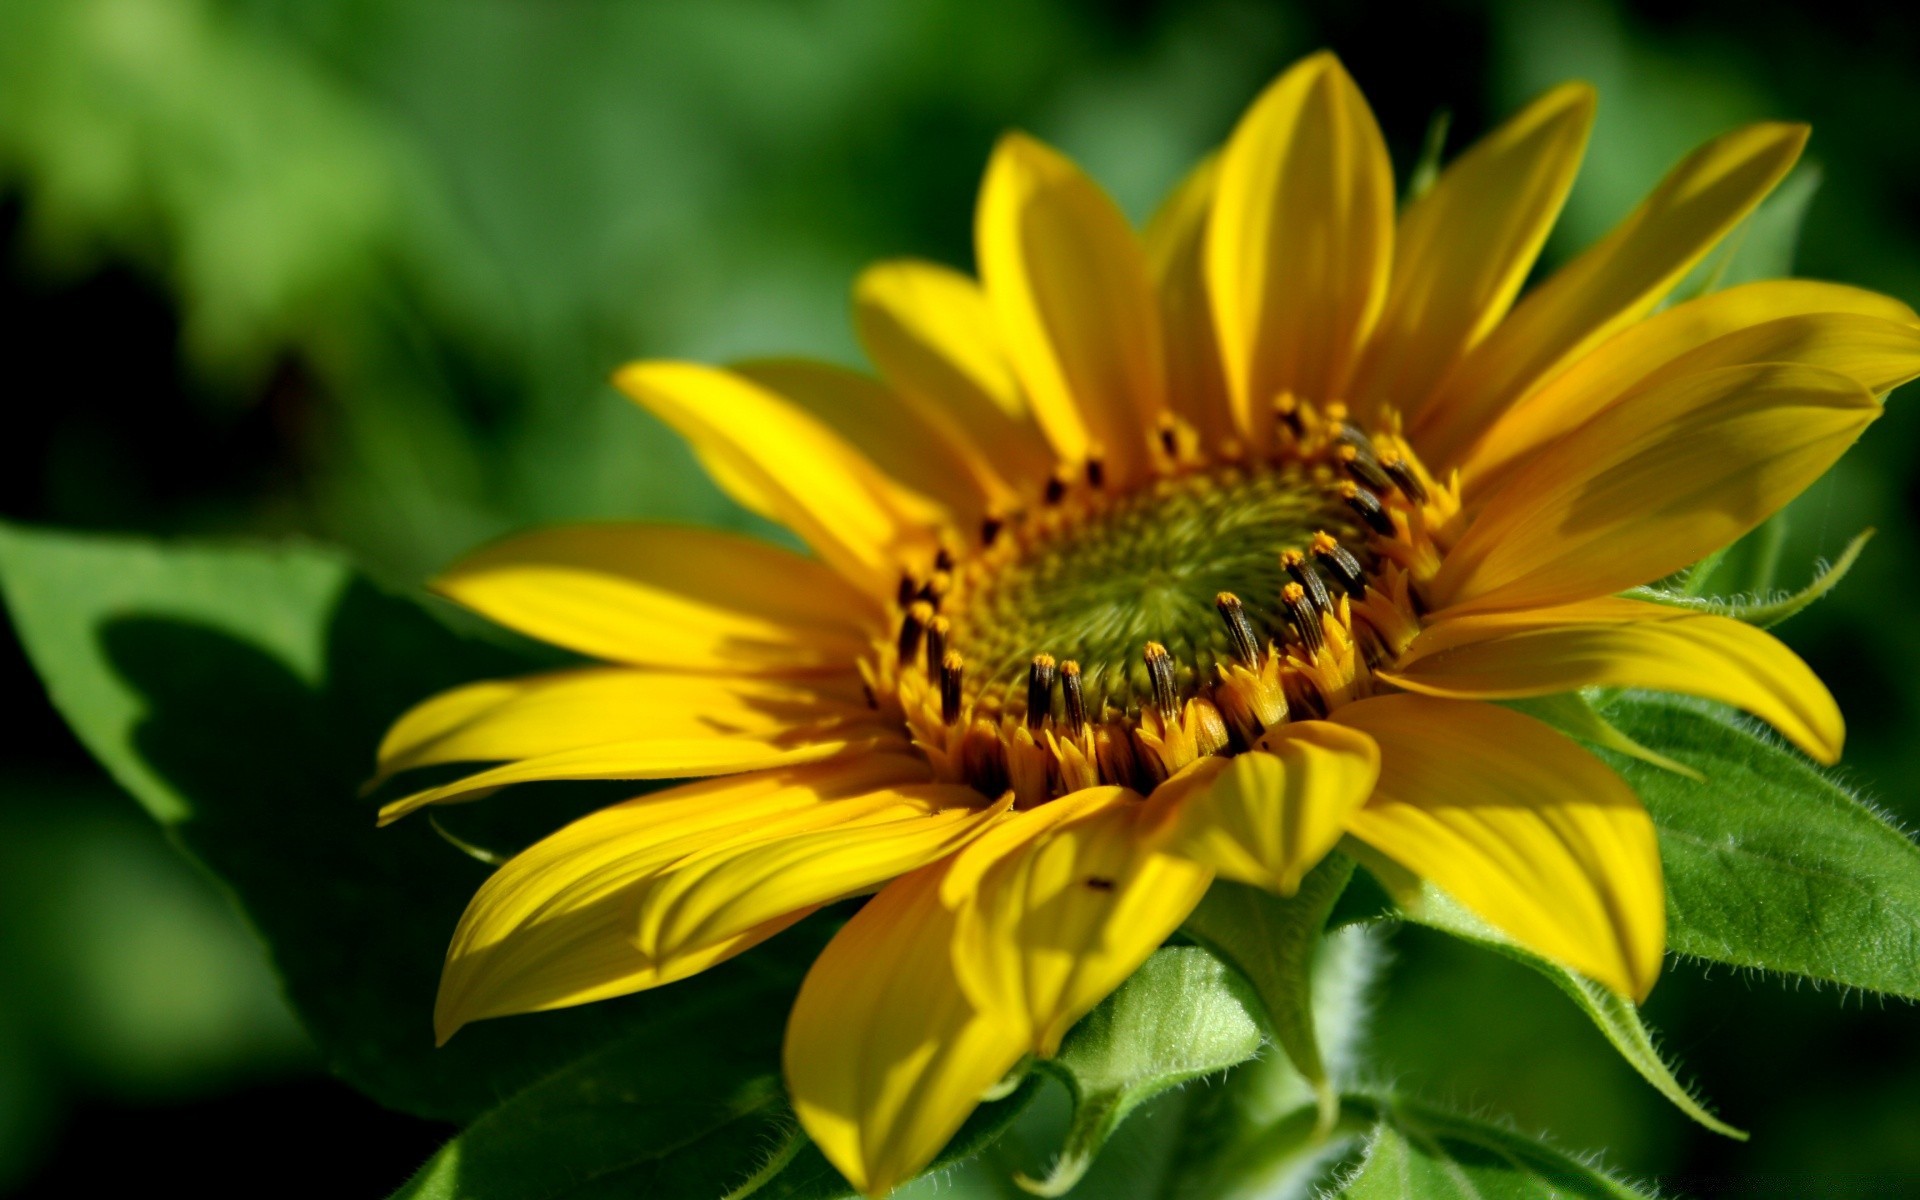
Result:
<instances>
[{"instance_id":1,"label":"whole yellow sunflower head with all petals and centre","mask_svg":"<svg viewBox=\"0 0 1920 1200\"><path fill-rule=\"evenodd\" d=\"M1791 169L1807 129L1778 123L1688 156L1523 298L1592 115L1592 88L1559 86L1396 213L1380 131L1319 54L1144 234L1010 134L979 280L858 278L877 378L622 369L812 555L589 524L438 580L603 664L407 712L382 778L497 766L382 820L536 780L697 780L488 879L440 1039L659 987L872 895L801 987L785 1075L826 1156L883 1194L1215 877L1288 895L1336 845L1645 996L1645 810L1494 701L1690 693L1834 762L1839 712L1791 651L1622 593L1818 478L1920 374L1920 324L1799 280L1667 305Z\"/></svg>"}]
</instances>

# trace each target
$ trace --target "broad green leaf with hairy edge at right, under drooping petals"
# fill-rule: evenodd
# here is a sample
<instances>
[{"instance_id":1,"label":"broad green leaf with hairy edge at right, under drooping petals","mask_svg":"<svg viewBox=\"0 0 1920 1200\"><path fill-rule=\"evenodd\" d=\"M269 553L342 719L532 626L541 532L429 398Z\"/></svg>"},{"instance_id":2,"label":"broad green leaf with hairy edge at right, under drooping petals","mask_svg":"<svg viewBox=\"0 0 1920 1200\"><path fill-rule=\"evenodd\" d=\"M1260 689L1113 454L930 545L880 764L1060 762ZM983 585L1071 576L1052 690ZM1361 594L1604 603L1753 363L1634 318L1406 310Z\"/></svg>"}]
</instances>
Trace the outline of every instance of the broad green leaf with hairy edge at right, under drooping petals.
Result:
<instances>
[{"instance_id":1,"label":"broad green leaf with hairy edge at right, under drooping petals","mask_svg":"<svg viewBox=\"0 0 1920 1200\"><path fill-rule=\"evenodd\" d=\"M1653 814L1678 954L1920 998L1920 847L1797 753L1699 703L1605 716L1705 776L1619 755Z\"/></svg>"}]
</instances>

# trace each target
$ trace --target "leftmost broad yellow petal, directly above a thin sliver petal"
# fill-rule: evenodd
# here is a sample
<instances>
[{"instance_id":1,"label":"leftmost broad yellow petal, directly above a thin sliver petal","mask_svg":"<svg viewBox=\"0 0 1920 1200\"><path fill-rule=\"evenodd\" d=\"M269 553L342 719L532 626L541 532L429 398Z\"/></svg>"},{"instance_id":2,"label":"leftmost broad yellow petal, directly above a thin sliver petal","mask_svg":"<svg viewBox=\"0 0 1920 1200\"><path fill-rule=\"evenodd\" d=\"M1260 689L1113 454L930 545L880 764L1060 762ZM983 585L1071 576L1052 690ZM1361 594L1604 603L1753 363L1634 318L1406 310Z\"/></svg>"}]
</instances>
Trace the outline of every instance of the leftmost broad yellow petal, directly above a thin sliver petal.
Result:
<instances>
[{"instance_id":1,"label":"leftmost broad yellow petal, directly above a thin sliver petal","mask_svg":"<svg viewBox=\"0 0 1920 1200\"><path fill-rule=\"evenodd\" d=\"M806 684L618 666L486 680L409 708L380 743L380 778L440 762L505 762L634 733L768 737L866 716L856 676Z\"/></svg>"}]
</instances>

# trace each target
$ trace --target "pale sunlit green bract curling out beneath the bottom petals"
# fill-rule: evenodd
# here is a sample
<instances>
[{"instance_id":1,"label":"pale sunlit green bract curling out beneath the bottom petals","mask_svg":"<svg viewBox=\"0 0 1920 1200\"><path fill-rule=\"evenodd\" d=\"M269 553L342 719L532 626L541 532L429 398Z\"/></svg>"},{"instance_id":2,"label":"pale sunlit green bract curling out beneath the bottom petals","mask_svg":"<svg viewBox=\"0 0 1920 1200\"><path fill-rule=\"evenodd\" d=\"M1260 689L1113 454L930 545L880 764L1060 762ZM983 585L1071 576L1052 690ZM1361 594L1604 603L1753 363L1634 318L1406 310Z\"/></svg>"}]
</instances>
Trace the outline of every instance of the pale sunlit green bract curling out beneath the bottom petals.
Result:
<instances>
[{"instance_id":1,"label":"pale sunlit green bract curling out beneath the bottom petals","mask_svg":"<svg viewBox=\"0 0 1920 1200\"><path fill-rule=\"evenodd\" d=\"M1258 1000L1240 977L1206 950L1156 950L1068 1033L1054 1060L1039 1064L1068 1085L1073 1119L1046 1177L1021 1187L1064 1194L1135 1108L1258 1054L1254 1012Z\"/></svg>"}]
</instances>

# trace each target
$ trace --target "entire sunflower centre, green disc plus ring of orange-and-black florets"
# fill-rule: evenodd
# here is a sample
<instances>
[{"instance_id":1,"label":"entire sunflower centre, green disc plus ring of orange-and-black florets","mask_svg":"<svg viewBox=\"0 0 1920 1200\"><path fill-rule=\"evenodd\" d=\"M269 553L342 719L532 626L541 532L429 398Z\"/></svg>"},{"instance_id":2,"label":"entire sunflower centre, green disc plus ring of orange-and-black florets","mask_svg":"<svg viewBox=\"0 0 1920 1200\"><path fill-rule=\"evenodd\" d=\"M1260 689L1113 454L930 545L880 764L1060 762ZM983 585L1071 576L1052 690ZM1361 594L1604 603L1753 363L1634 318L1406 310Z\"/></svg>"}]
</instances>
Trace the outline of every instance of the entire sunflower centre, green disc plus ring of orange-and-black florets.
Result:
<instances>
[{"instance_id":1,"label":"entire sunflower centre, green disc plus ring of orange-and-black florets","mask_svg":"<svg viewBox=\"0 0 1920 1200\"><path fill-rule=\"evenodd\" d=\"M941 778L1021 808L1140 793L1371 693L1419 632L1413 582L1457 515L1388 415L1283 394L1275 445L1154 432L1152 474L1094 449L902 580L862 664ZM1409 582L1411 580L1411 582Z\"/></svg>"}]
</instances>

